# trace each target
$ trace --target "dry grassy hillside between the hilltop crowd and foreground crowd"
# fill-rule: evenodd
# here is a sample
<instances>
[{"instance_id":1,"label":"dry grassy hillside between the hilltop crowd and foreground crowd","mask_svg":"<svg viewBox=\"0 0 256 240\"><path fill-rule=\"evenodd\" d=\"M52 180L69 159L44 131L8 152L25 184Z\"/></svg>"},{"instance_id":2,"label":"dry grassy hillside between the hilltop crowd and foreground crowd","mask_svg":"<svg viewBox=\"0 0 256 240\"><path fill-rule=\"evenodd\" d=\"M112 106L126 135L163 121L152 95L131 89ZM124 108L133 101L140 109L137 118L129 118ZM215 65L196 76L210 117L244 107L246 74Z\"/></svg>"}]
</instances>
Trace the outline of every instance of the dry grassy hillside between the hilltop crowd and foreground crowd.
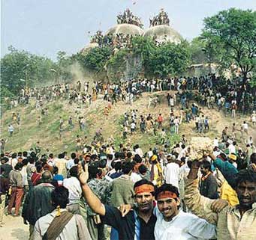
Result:
<instances>
[{"instance_id":1,"label":"dry grassy hillside between the hilltop crowd and foreground crowd","mask_svg":"<svg viewBox=\"0 0 256 240\"><path fill-rule=\"evenodd\" d=\"M75 150L76 147L76 136L80 135L81 138L88 136L89 142L92 141L95 131L102 127L104 139L112 136L115 141L114 143L118 146L123 143L122 140L122 120L125 111L131 111L131 109L137 109L137 117L141 114L146 115L151 113L153 117L157 117L158 113L162 113L164 117L164 126L169 125L169 108L167 107L167 102L164 96L161 97L161 105L157 108L147 108L149 96L152 93L143 93L143 97L140 97L134 104L127 105L124 102L118 102L114 105L110 111L110 115L106 120L104 117L104 106L107 105L103 102L102 98L99 97L92 105L87 107L84 105L69 105L67 101L57 100L54 102L49 102L44 104L43 108L48 108L48 115L42 117L41 125L38 124L38 116L41 116L41 111L35 110L35 100L29 105L18 106L10 111L5 111L2 115L1 121L1 138L7 138L8 142L6 144L7 151L20 151L29 150L31 147L35 147L37 141L40 141L40 146L44 150L49 149L50 152L60 153L64 150L70 152ZM164 92L164 94L167 94ZM162 95L164 95L162 94ZM12 112L20 113L21 124L20 129L16 123L14 123L14 135L10 138L8 136L8 124L12 122ZM215 110L209 110L203 108L203 113L205 116L209 117L210 130L205 136L209 138L215 138L221 135L221 130L224 126L229 126L231 131L231 126L233 120L230 117L224 117L224 115ZM175 114L179 115L179 108L175 108ZM65 121L65 131L62 134L62 139L59 138L59 117ZM86 119L86 128L83 132L80 132L78 126L78 117L83 116ZM74 129L68 129L68 118L72 117L74 122ZM237 121L237 126L242 123L242 120L249 120L249 117L239 117ZM255 135L255 129L251 129ZM180 134L185 134L188 138L191 136L198 136L199 134L194 131L194 122L182 123L180 127ZM203 136L202 135L202 136ZM179 141L179 135L170 136L170 142L173 144ZM139 131L135 135L128 135L128 140L131 144L140 144L143 150L148 150L149 147L154 147L155 144L159 143L159 137L154 136L152 133L141 134Z\"/></svg>"}]
</instances>

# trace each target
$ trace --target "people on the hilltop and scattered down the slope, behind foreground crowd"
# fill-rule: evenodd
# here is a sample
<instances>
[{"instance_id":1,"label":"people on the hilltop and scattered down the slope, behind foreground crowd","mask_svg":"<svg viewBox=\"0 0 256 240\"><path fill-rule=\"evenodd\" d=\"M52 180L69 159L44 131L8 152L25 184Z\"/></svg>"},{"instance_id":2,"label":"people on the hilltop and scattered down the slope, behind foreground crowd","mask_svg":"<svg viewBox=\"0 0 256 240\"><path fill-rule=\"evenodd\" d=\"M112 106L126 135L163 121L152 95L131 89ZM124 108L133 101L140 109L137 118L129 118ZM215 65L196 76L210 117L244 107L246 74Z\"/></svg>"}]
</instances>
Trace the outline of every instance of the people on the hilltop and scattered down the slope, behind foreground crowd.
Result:
<instances>
[{"instance_id":1,"label":"people on the hilltop and scattered down the slope, behind foreground crowd","mask_svg":"<svg viewBox=\"0 0 256 240\"><path fill-rule=\"evenodd\" d=\"M165 91L174 90L175 92ZM215 75L197 77L180 77L166 79L133 79L131 81L120 81L119 83L104 83L102 81L77 81L75 84L55 84L48 87L35 87L22 89L17 99L12 99L10 108L15 108L17 104L28 104L31 99L35 102L35 110L37 111L37 125L41 126L44 118L49 114L47 102L58 99L67 101L70 105L74 104L77 108L74 114L69 117L67 124L60 116L59 120L59 138L62 139L63 132L72 131L76 122L79 124L80 131L84 132L86 118L81 113L82 108L92 105L92 102L102 97L106 103L103 109L104 117L107 119L110 115L111 108L117 102L122 101L128 105L140 98L142 93L153 93L148 97L149 114L141 115L136 113L137 117L131 117L131 120L122 122L122 136L127 138L128 133L152 132L154 135L164 135L166 133L179 133L179 126L182 123L194 122L194 130L199 134L209 131L211 116L202 111L200 105L218 111L223 111L226 117L231 117L233 126L232 132L234 140L247 141L248 122L245 121L241 125L236 123L236 118L240 114L250 115L252 125L256 125L256 96L254 89L248 81L242 81L241 78L225 80ZM163 97L164 96L164 97ZM26 98L26 103L21 99ZM17 102L14 104L14 102ZM167 102L170 109L168 114L161 114L164 122L159 124L158 109L160 103ZM174 110L179 108L178 111ZM150 109L154 108L152 112ZM139 117L140 116L140 117ZM13 111L12 121L8 123L8 135L11 138L15 132L21 129L20 112ZM164 127L161 126L164 123ZM132 131L131 131L132 129ZM5 147L5 139L2 139Z\"/></svg>"}]
</instances>

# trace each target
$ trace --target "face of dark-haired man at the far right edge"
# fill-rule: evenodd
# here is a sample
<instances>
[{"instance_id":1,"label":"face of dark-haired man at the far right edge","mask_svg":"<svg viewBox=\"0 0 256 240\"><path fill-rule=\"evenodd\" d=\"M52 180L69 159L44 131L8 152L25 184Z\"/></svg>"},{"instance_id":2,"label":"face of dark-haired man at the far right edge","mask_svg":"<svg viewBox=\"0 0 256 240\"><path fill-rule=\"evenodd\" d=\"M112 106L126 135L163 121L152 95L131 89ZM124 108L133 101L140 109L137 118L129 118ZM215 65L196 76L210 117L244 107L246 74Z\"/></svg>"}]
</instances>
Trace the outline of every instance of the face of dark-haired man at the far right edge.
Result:
<instances>
[{"instance_id":1,"label":"face of dark-haired man at the far right edge","mask_svg":"<svg viewBox=\"0 0 256 240\"><path fill-rule=\"evenodd\" d=\"M256 182L239 182L236 194L240 206L251 208L251 205L256 203Z\"/></svg>"}]
</instances>

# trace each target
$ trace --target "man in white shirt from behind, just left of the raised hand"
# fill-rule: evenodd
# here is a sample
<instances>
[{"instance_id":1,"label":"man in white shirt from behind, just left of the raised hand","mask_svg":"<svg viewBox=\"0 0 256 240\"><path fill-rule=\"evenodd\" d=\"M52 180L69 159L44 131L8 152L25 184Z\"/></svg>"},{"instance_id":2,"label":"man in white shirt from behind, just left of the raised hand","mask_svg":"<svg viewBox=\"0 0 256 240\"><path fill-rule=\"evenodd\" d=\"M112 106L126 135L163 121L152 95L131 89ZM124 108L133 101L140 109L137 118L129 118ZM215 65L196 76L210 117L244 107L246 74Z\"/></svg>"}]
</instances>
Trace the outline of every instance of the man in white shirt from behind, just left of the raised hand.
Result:
<instances>
[{"instance_id":1,"label":"man in white shirt from behind, just left of the raised hand","mask_svg":"<svg viewBox=\"0 0 256 240\"><path fill-rule=\"evenodd\" d=\"M71 177L63 180L63 186L65 186L65 188L68 188L69 191L69 203L67 209L69 212L72 213L80 213L79 200L82 196L82 188L80 186L79 180L77 179L77 166L71 167L69 172Z\"/></svg>"}]
</instances>

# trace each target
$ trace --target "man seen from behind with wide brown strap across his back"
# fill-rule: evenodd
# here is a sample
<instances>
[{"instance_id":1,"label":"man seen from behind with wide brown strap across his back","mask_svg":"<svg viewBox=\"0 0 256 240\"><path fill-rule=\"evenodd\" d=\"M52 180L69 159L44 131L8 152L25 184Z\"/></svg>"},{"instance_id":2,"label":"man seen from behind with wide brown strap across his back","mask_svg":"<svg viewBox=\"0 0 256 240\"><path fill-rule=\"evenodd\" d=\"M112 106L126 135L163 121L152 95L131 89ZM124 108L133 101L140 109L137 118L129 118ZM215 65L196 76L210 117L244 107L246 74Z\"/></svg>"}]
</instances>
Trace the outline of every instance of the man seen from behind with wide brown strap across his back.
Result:
<instances>
[{"instance_id":1,"label":"man seen from behind with wide brown strap across his back","mask_svg":"<svg viewBox=\"0 0 256 240\"><path fill-rule=\"evenodd\" d=\"M52 192L53 212L35 223L35 240L91 240L83 217L68 212L68 189L57 187Z\"/></svg>"}]
</instances>

